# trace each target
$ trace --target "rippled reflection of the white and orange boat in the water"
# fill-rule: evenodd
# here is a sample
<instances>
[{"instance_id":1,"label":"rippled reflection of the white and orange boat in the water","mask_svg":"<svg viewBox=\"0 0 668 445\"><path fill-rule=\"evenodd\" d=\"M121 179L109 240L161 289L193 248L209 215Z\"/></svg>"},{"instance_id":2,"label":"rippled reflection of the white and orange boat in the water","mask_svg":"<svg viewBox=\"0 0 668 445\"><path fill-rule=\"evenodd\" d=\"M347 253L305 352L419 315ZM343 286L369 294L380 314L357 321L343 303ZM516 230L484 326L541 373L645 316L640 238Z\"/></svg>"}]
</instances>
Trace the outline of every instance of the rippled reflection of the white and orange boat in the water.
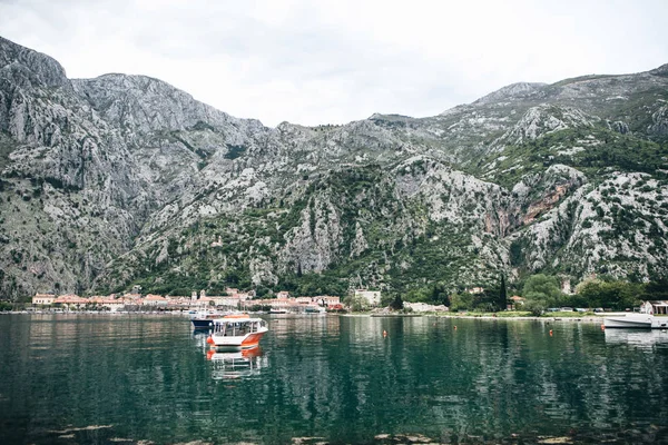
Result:
<instances>
[{"instance_id":1,"label":"rippled reflection of the white and orange boat in the water","mask_svg":"<svg viewBox=\"0 0 668 445\"><path fill-rule=\"evenodd\" d=\"M256 376L267 367L267 357L263 356L259 346L242 350L212 348L206 353L206 359L213 364L215 380Z\"/></svg>"}]
</instances>

